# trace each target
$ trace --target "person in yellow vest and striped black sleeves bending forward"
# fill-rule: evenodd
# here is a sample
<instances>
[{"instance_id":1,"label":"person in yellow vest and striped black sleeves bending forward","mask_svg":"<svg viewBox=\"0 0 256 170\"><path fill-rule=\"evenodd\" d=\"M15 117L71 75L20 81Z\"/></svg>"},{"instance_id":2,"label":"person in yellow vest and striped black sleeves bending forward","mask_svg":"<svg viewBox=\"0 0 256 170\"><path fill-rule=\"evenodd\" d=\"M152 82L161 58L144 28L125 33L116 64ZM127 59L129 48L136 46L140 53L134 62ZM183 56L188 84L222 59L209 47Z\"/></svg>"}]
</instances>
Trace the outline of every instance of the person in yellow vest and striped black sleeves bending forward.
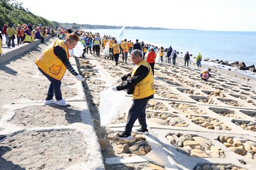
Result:
<instances>
[{"instance_id":1,"label":"person in yellow vest and striped black sleeves bending forward","mask_svg":"<svg viewBox=\"0 0 256 170\"><path fill-rule=\"evenodd\" d=\"M66 69L74 75L78 81L84 80L81 75L76 73L68 61L69 50L74 48L78 41L79 37L74 33L70 33L66 36L65 40L55 40L35 60L38 70L50 81L44 104L49 105L55 103L60 106L69 105L62 99L60 91L60 80L62 79ZM56 101L53 99L53 94L55 94Z\"/></svg>"}]
</instances>

